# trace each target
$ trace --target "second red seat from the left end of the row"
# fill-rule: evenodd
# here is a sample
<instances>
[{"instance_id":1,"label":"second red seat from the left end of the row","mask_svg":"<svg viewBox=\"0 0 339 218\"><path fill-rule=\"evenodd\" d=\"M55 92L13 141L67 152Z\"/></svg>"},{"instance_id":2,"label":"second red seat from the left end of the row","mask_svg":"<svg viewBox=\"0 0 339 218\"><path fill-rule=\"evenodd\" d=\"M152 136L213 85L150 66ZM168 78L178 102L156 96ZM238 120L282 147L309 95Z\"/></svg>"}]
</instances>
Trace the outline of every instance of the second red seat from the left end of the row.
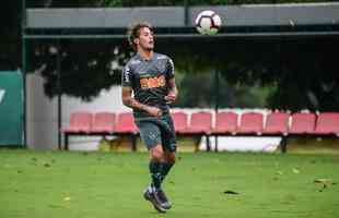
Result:
<instances>
[{"instance_id":1,"label":"second red seat from the left end of the row","mask_svg":"<svg viewBox=\"0 0 339 218\"><path fill-rule=\"evenodd\" d=\"M92 132L113 133L115 125L115 114L113 112L97 112L94 116Z\"/></svg>"}]
</instances>

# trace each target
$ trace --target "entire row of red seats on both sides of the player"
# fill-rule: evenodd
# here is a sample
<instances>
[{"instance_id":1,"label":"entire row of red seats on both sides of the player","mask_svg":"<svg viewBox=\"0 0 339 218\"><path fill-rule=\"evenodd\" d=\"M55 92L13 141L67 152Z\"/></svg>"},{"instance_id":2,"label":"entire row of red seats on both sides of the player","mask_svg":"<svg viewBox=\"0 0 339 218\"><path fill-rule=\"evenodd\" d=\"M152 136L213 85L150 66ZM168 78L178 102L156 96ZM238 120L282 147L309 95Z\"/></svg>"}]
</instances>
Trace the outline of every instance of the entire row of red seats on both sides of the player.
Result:
<instances>
[{"instance_id":1,"label":"entire row of red seats on both sides of the player","mask_svg":"<svg viewBox=\"0 0 339 218\"><path fill-rule=\"evenodd\" d=\"M206 135L337 135L339 136L339 112L306 113L271 112L266 119L259 112L218 112L212 124L211 112L194 112L188 119L185 112L172 113L178 134ZM266 122L264 122L266 121ZM137 133L130 112L73 112L65 133L77 134L126 134Z\"/></svg>"}]
</instances>

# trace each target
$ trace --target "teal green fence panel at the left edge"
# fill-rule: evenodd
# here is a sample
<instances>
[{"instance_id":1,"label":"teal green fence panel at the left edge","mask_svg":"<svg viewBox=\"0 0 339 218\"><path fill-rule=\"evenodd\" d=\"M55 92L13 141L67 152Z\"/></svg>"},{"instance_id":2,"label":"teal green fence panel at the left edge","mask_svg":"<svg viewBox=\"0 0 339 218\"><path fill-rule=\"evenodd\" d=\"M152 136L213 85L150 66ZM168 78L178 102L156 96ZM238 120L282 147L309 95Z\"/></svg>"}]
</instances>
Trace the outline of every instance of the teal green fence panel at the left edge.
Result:
<instances>
[{"instance_id":1,"label":"teal green fence panel at the left edge","mask_svg":"<svg viewBox=\"0 0 339 218\"><path fill-rule=\"evenodd\" d=\"M0 146L24 144L23 98L22 73L0 72Z\"/></svg>"}]
</instances>

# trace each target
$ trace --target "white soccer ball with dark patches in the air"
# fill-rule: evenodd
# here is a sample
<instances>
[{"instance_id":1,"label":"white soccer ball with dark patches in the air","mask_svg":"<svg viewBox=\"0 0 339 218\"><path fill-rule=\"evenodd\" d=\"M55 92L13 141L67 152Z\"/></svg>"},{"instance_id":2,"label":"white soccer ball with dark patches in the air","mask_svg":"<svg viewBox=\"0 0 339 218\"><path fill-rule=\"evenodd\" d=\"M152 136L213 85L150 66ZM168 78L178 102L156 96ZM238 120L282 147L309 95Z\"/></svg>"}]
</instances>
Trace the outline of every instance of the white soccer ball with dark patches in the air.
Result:
<instances>
[{"instance_id":1,"label":"white soccer ball with dark patches in the air","mask_svg":"<svg viewBox=\"0 0 339 218\"><path fill-rule=\"evenodd\" d=\"M196 17L196 28L202 35L215 35L220 27L221 17L214 11L201 11Z\"/></svg>"}]
</instances>

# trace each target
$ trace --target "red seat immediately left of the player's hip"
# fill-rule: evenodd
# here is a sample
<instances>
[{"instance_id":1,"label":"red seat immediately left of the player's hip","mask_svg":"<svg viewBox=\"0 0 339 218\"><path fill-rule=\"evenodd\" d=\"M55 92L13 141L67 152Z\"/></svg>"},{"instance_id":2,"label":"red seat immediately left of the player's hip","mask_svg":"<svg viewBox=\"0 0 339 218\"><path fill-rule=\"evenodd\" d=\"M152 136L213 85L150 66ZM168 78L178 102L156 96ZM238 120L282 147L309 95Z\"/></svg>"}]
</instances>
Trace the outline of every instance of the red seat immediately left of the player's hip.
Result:
<instances>
[{"instance_id":1,"label":"red seat immediately left of the player's hip","mask_svg":"<svg viewBox=\"0 0 339 218\"><path fill-rule=\"evenodd\" d=\"M116 120L115 133L136 133L137 126L131 112L119 113Z\"/></svg>"}]
</instances>

